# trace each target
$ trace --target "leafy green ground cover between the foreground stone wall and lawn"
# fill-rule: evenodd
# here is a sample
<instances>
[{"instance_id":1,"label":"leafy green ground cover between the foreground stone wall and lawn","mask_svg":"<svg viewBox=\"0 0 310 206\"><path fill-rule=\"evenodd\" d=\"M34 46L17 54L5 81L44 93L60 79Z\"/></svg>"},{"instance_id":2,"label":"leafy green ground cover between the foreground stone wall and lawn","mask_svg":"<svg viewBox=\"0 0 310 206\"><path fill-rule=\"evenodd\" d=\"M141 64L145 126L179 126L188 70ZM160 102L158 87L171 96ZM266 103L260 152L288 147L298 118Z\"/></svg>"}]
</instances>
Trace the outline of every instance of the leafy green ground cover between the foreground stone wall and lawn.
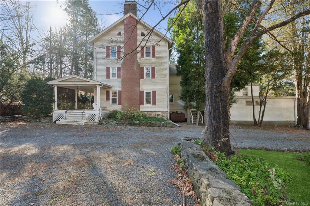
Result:
<instances>
[{"instance_id":1,"label":"leafy green ground cover between the foreground stone wall and lawn","mask_svg":"<svg viewBox=\"0 0 310 206\"><path fill-rule=\"evenodd\" d=\"M288 173L261 158L237 154L226 157L221 152L216 155L219 160L214 163L241 187L252 205L281 205L279 200L291 179Z\"/></svg>"}]
</instances>

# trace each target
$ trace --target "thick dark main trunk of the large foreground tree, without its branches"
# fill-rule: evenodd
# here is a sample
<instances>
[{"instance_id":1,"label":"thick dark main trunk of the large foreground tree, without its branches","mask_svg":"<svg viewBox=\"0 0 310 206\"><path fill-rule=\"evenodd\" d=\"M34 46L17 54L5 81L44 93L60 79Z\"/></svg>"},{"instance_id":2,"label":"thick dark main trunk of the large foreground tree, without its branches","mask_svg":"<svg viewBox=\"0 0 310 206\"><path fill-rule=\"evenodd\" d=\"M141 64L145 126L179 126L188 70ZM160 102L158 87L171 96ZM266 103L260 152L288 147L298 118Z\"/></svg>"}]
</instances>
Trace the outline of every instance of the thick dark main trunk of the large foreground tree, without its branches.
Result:
<instances>
[{"instance_id":1,"label":"thick dark main trunk of the large foreground tree, without its branches","mask_svg":"<svg viewBox=\"0 0 310 206\"><path fill-rule=\"evenodd\" d=\"M224 53L223 19L220 1L197 1L204 21L205 38L205 142L217 150L231 153L229 140L229 86L224 87L226 61Z\"/></svg>"}]
</instances>

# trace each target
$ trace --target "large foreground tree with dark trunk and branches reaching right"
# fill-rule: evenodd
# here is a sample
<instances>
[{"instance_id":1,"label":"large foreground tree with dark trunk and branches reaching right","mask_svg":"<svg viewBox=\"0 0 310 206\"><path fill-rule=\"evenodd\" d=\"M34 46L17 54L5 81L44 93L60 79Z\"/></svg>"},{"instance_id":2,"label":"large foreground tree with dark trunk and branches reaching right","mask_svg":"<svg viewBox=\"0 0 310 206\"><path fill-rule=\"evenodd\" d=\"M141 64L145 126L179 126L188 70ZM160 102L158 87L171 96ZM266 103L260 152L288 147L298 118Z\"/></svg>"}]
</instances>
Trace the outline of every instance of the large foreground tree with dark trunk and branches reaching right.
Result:
<instances>
[{"instance_id":1,"label":"large foreground tree with dark trunk and branches reaching right","mask_svg":"<svg viewBox=\"0 0 310 206\"><path fill-rule=\"evenodd\" d=\"M205 140L208 145L215 146L219 151L231 153L229 140L229 121L228 121L228 97L229 86L232 77L237 71L237 65L246 50L253 42L263 34L270 33L272 30L285 26L292 21L310 14L310 9L298 12L287 17L280 23L273 24L268 28L261 25L262 20L268 14L274 1L265 6L264 11L259 17L255 16L255 11L262 7L259 1L251 2L250 9L247 11L239 29L236 31L227 49L224 44L224 25L223 11L220 1L196 1L201 9L204 21L205 37ZM245 42L237 49L237 45L246 33L248 25L255 22L255 27Z\"/></svg>"}]
</instances>

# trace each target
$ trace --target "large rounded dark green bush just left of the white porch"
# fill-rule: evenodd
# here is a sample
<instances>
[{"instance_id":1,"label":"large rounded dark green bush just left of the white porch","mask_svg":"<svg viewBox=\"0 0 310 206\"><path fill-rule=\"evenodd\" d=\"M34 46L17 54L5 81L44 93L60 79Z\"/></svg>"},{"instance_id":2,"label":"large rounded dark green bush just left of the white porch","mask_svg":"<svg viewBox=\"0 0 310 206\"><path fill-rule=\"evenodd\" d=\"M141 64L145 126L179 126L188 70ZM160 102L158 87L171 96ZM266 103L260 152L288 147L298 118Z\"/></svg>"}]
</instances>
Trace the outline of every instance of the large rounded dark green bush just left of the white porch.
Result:
<instances>
[{"instance_id":1,"label":"large rounded dark green bush just left of the white porch","mask_svg":"<svg viewBox=\"0 0 310 206\"><path fill-rule=\"evenodd\" d=\"M47 81L52 79L42 79L32 76L25 84L24 91L21 94L21 100L24 103L24 113L33 117L47 116L53 111L54 91Z\"/></svg>"}]
</instances>

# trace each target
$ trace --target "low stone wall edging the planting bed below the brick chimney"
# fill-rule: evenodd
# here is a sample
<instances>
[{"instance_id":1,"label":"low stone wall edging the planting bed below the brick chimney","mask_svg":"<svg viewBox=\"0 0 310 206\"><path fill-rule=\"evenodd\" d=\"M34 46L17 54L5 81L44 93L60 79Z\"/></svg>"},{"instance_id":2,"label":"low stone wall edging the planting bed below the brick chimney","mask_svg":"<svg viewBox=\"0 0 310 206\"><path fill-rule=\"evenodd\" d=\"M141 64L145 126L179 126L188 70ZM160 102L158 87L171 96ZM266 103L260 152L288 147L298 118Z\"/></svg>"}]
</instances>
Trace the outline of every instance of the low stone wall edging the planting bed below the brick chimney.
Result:
<instances>
[{"instance_id":1,"label":"low stone wall edging the planting bed below the brick chimney","mask_svg":"<svg viewBox=\"0 0 310 206\"><path fill-rule=\"evenodd\" d=\"M172 121L118 121L112 119L100 120L101 125L130 125L130 126L148 126L148 127L172 127Z\"/></svg>"}]
</instances>

